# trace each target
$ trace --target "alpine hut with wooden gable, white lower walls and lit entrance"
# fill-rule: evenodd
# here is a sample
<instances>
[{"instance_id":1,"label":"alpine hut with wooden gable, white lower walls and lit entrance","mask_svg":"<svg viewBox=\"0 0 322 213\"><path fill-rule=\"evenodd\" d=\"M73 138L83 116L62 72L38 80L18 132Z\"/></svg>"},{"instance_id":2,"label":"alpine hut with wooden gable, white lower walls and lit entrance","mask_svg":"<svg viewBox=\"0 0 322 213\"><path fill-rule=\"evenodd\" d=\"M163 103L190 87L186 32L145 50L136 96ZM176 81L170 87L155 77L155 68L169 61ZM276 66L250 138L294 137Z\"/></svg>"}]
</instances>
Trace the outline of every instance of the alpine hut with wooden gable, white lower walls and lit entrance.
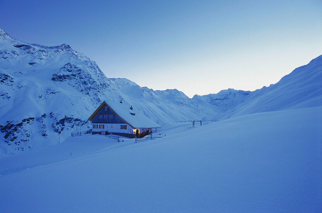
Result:
<instances>
[{"instance_id":1,"label":"alpine hut with wooden gable, white lower walls and lit entrance","mask_svg":"<svg viewBox=\"0 0 322 213\"><path fill-rule=\"evenodd\" d=\"M124 102L106 102L88 118L92 122L92 134L144 137L157 132L160 126L141 111Z\"/></svg>"}]
</instances>

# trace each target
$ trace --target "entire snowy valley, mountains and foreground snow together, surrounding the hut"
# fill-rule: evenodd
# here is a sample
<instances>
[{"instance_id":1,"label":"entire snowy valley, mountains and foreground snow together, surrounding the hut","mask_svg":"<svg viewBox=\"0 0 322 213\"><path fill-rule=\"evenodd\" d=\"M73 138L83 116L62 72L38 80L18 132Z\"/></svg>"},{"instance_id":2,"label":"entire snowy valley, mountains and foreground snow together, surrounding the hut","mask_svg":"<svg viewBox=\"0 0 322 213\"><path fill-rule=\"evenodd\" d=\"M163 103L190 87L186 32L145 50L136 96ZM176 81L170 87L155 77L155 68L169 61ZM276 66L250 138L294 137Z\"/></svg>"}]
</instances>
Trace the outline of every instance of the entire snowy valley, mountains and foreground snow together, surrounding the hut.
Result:
<instances>
[{"instance_id":1,"label":"entire snowy valley, mountains and foreground snow together, surrounding the hut","mask_svg":"<svg viewBox=\"0 0 322 213\"><path fill-rule=\"evenodd\" d=\"M160 138L71 137L104 100L140 110ZM269 87L189 98L0 29L0 107L1 212L322 210L322 56Z\"/></svg>"}]
</instances>

